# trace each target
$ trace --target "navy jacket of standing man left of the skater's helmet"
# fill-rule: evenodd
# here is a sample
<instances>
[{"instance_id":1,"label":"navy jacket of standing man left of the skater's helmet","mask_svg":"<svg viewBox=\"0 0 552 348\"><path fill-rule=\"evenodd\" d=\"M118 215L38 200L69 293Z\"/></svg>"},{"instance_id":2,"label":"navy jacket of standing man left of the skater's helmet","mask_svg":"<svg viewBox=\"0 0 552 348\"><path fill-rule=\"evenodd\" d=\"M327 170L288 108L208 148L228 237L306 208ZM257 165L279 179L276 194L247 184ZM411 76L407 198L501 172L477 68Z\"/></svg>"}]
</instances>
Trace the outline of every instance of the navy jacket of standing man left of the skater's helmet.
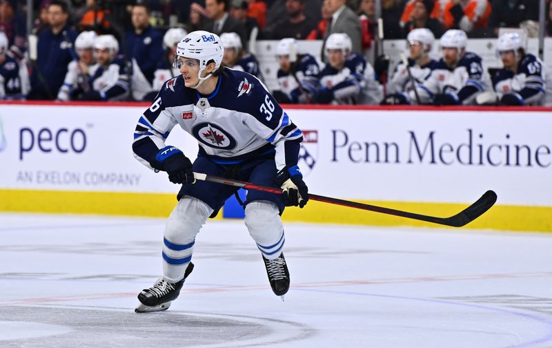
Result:
<instances>
[{"instance_id":1,"label":"navy jacket of standing man left of the skater's helmet","mask_svg":"<svg viewBox=\"0 0 552 348\"><path fill-rule=\"evenodd\" d=\"M141 72L150 84L159 61L164 58L162 43L163 35L152 27L148 27L140 35L134 31L126 34L126 54L129 59L136 59Z\"/></svg>"}]
</instances>

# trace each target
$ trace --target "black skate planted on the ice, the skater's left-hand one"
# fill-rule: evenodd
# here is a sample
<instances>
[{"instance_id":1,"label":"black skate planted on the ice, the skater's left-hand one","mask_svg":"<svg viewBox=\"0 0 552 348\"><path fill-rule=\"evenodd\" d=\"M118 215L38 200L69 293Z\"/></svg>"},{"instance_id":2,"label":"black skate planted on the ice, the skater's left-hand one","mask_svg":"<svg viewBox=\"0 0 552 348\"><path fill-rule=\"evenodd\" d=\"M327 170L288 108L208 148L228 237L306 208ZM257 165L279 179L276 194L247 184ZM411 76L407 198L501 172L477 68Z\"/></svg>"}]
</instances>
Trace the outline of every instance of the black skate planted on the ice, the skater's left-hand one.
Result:
<instances>
[{"instance_id":1,"label":"black skate planted on the ice, the skater's left-hand one","mask_svg":"<svg viewBox=\"0 0 552 348\"><path fill-rule=\"evenodd\" d=\"M134 310L136 313L146 313L152 311L165 311L170 307L172 300L175 300L179 294L184 280L192 273L194 264L190 262L184 272L184 279L179 282L167 282L164 278L159 278L153 287L144 289L138 294L140 303Z\"/></svg>"}]
</instances>

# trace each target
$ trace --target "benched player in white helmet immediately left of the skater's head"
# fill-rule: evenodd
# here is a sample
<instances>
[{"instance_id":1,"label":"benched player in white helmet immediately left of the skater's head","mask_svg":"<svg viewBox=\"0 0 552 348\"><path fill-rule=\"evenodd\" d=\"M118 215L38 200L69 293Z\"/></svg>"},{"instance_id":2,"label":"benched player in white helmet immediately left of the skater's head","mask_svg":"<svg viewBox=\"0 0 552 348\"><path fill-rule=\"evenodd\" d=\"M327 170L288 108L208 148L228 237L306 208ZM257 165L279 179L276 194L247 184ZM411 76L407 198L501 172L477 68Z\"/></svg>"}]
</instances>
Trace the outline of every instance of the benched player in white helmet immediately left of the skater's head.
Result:
<instances>
[{"instance_id":1,"label":"benched player in white helmet immediately left of the skater's head","mask_svg":"<svg viewBox=\"0 0 552 348\"><path fill-rule=\"evenodd\" d=\"M180 71L177 68L172 67L172 61L175 58L175 52L177 51L177 44L183 39L188 32L182 28L170 28L165 32L163 37L163 46L165 48L165 56L162 61L157 64L157 70L153 73L152 87L153 89L146 93L144 101L153 101L155 96L163 87L163 84L172 77L180 75ZM135 70L132 70L135 71Z\"/></svg>"}]
</instances>

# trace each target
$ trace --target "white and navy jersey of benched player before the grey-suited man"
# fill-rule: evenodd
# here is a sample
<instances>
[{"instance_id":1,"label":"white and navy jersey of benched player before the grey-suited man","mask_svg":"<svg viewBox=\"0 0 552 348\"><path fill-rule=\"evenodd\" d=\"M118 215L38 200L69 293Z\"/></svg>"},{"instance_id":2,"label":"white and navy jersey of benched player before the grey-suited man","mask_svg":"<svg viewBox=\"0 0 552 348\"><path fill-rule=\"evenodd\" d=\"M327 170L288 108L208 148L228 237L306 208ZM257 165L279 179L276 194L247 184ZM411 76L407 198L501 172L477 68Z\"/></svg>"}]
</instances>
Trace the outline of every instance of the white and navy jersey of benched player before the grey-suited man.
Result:
<instances>
[{"instance_id":1,"label":"white and navy jersey of benched player before the grey-suited man","mask_svg":"<svg viewBox=\"0 0 552 348\"><path fill-rule=\"evenodd\" d=\"M320 86L333 90L334 104L379 105L383 98L374 68L356 53L347 57L342 70L326 64L320 73Z\"/></svg>"}]
</instances>

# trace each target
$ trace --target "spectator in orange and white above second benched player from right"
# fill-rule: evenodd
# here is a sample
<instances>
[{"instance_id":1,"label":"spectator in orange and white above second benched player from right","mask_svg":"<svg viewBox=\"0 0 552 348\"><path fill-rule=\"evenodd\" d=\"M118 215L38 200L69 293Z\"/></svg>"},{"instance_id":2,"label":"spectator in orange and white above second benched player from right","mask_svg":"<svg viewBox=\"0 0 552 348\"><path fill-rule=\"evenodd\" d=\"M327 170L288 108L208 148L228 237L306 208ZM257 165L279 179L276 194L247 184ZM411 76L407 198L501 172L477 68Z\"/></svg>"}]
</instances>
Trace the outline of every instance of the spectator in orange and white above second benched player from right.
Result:
<instances>
[{"instance_id":1,"label":"spectator in orange and white above second benched player from right","mask_svg":"<svg viewBox=\"0 0 552 348\"><path fill-rule=\"evenodd\" d=\"M488 0L449 0L443 11L445 28L462 29L472 32L487 27L491 16L491 3Z\"/></svg>"}]
</instances>

